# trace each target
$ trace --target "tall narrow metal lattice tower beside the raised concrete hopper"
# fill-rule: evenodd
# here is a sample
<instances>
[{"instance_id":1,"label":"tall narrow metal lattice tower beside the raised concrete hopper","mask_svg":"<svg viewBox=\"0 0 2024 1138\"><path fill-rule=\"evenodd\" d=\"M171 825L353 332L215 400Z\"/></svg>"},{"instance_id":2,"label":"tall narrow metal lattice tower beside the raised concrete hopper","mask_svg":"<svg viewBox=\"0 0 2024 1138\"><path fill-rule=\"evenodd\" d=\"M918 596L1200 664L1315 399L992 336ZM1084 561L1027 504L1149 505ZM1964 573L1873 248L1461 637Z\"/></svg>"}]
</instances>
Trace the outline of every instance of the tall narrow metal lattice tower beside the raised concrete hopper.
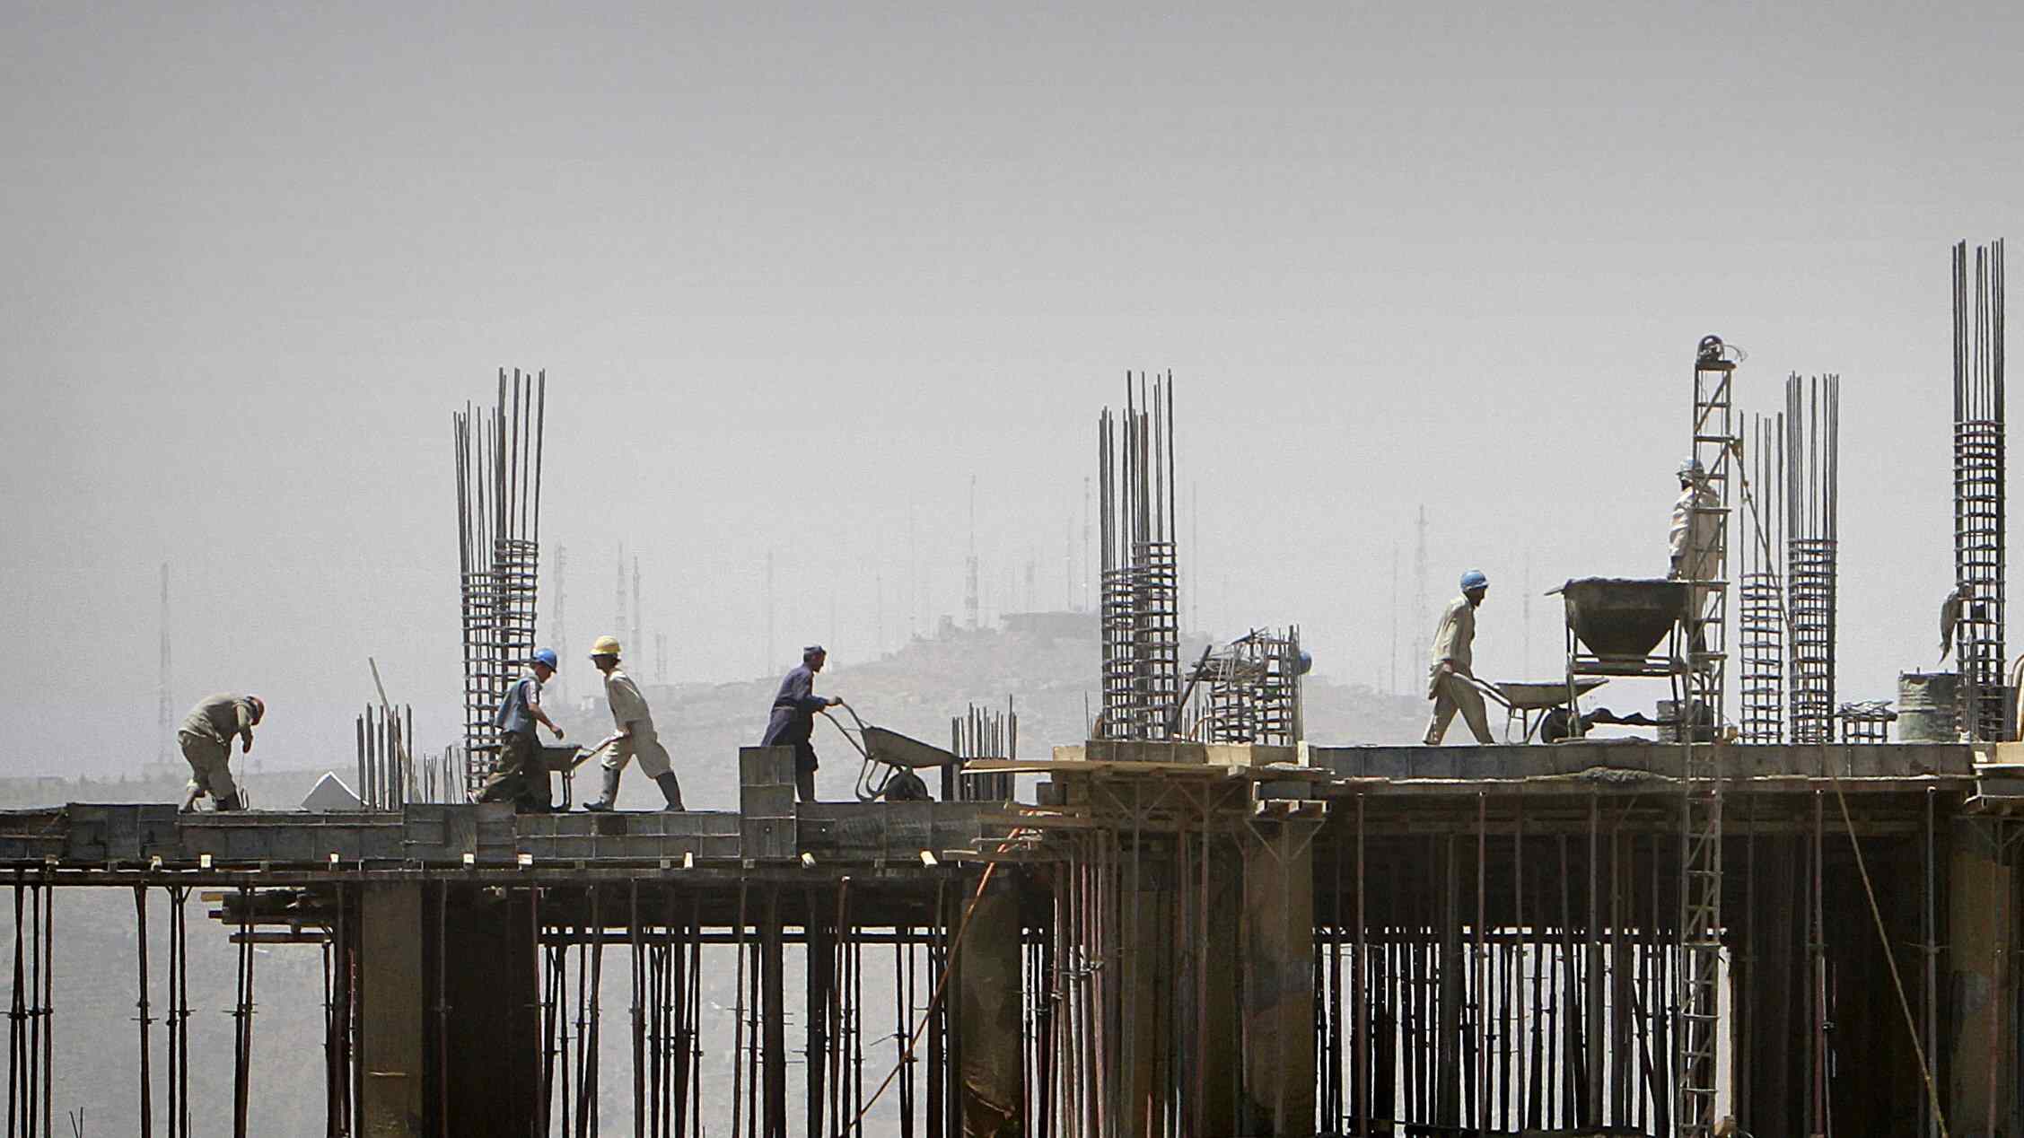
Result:
<instances>
[{"instance_id":1,"label":"tall narrow metal lattice tower beside the raised concrete hopper","mask_svg":"<svg viewBox=\"0 0 2024 1138\"><path fill-rule=\"evenodd\" d=\"M1674 990L1674 1132L1704 1138L1714 1132L1714 1049L1720 1021L1722 968L1722 778L1720 727L1728 664L1728 508L1731 460L1739 450L1731 381L1735 360L1718 338L1700 342L1694 358L1694 458L1720 498L1712 514L1712 549L1682 620L1686 668L1674 672L1674 717L1682 747L1680 780L1680 972ZM1696 510L1698 512L1698 510ZM1696 518L1698 520L1698 518ZM1698 531L1698 526L1696 526ZM1710 741L1696 743L1700 707Z\"/></svg>"}]
</instances>

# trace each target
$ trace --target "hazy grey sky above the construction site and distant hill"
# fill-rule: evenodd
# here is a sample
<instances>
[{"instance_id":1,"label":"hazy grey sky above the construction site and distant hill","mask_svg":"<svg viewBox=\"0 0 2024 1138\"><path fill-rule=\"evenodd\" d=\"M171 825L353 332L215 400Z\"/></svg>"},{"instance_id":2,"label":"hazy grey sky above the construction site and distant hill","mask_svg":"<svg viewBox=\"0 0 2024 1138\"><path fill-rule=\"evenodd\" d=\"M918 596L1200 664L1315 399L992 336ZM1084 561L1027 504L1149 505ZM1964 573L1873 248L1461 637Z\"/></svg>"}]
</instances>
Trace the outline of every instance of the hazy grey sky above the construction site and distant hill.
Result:
<instances>
[{"instance_id":1,"label":"hazy grey sky above the construction site and distant hill","mask_svg":"<svg viewBox=\"0 0 2024 1138\"><path fill-rule=\"evenodd\" d=\"M255 688L269 759L342 759L376 654L447 741L449 411L502 364L549 369L571 648L623 541L674 676L761 672L771 547L779 662L826 638L846 676L876 575L905 630L909 510L923 614L961 612L972 474L992 607L1028 559L1059 605L1095 413L1174 369L1204 624L1299 622L1368 680L1421 502L1431 599L1496 581L1486 674L1524 668L1528 563L1534 591L1662 573L1716 332L1751 407L1842 375L1842 690L1890 695L1951 579L1947 245L2016 229L2020 32L2006 4L6 4L0 765L154 755L162 561L178 715ZM1532 642L1556 670L1556 603Z\"/></svg>"}]
</instances>

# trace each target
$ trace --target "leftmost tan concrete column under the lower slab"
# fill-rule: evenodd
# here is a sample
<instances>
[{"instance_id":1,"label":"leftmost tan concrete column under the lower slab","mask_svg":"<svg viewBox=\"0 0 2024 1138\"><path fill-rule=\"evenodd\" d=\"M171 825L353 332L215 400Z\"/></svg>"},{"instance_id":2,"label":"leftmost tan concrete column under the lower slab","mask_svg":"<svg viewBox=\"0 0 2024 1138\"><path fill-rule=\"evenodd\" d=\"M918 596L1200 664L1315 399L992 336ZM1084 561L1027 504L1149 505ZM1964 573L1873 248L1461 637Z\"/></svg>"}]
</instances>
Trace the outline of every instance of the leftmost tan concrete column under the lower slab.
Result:
<instances>
[{"instance_id":1,"label":"leftmost tan concrete column under the lower slab","mask_svg":"<svg viewBox=\"0 0 2024 1138\"><path fill-rule=\"evenodd\" d=\"M421 885L358 889L358 1091L362 1138L421 1138L423 1057Z\"/></svg>"}]
</instances>

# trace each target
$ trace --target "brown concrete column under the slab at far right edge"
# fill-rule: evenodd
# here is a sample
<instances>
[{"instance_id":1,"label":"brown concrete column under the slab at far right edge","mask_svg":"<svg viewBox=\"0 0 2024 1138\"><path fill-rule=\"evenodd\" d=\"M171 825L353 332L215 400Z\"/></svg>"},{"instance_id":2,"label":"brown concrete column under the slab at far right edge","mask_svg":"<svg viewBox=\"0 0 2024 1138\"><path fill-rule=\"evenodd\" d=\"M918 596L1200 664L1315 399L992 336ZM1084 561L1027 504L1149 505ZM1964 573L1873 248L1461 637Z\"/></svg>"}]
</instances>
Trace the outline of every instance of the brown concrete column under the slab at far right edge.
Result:
<instances>
[{"instance_id":1,"label":"brown concrete column under the slab at far right edge","mask_svg":"<svg viewBox=\"0 0 2024 1138\"><path fill-rule=\"evenodd\" d=\"M1996 861L1996 824L1957 824L1947 865L1947 1130L1961 1138L2008 1132L2016 1083L2008 954L2016 944L2016 871ZM1994 1120L1994 1126L1992 1126Z\"/></svg>"}]
</instances>

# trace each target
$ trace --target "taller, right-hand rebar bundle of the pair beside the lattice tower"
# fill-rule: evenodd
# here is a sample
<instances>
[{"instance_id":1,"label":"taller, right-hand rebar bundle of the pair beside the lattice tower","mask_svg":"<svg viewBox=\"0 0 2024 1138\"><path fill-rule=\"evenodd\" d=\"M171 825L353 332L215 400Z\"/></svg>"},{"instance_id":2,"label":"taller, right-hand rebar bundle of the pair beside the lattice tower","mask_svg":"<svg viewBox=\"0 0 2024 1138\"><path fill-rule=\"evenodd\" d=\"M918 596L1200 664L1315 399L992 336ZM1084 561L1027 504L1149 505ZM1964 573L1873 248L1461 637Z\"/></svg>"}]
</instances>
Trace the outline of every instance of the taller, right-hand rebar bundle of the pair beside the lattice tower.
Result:
<instances>
[{"instance_id":1,"label":"taller, right-hand rebar bundle of the pair beside the lattice tower","mask_svg":"<svg viewBox=\"0 0 2024 1138\"><path fill-rule=\"evenodd\" d=\"M1842 377L1785 379L1785 599L1791 741L1834 741Z\"/></svg>"}]
</instances>

